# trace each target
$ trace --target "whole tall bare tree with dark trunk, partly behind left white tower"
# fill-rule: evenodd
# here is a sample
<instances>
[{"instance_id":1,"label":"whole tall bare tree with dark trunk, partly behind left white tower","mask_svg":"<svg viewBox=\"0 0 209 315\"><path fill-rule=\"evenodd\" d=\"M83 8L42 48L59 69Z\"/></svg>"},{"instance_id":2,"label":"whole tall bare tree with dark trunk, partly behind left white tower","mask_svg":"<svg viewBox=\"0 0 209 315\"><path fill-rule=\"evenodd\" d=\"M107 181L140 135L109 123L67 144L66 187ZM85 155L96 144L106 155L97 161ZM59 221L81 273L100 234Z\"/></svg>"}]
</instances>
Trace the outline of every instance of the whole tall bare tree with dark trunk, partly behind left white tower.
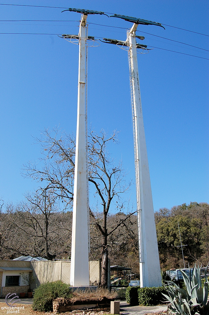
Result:
<instances>
[{"instance_id":1,"label":"whole tall bare tree with dark trunk, partly behind left white tower","mask_svg":"<svg viewBox=\"0 0 209 315\"><path fill-rule=\"evenodd\" d=\"M37 164L29 162L24 167L24 175L40 181L43 185L42 190L50 190L55 198L63 202L63 210L72 207L73 184L74 184L74 159L75 159L75 137L67 135L65 132L59 132L57 128L52 132L45 130L40 139L36 139L42 146L42 155L40 159L42 168ZM107 228L107 217L111 212L129 211L128 203L124 201L122 195L129 190L131 182L127 182L126 172L122 168L122 162L116 165L107 151L108 144L112 141L118 143L117 132L107 137L104 131L97 135L95 132L89 134L89 182L90 190L94 190L95 196L98 196L101 205L97 207L96 212L101 212L98 219L94 211L90 209L92 226L96 227L100 233L101 241L95 244L94 249L100 248L102 258L102 286L107 286L108 272L108 237L115 232L119 226L125 226L135 211L126 216L118 215L117 221L111 229ZM31 202L31 200L29 200Z\"/></svg>"}]
</instances>

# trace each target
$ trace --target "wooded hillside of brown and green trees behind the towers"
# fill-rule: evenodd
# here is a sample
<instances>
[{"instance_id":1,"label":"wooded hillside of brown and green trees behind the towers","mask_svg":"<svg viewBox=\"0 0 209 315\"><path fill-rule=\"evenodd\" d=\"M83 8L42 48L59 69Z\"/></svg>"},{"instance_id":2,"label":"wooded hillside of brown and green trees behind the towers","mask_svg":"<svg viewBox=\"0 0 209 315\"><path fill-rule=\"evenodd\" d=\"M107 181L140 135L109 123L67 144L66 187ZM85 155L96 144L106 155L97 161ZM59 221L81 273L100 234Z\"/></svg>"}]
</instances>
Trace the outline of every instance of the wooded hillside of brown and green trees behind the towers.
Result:
<instances>
[{"instance_id":1,"label":"wooded hillside of brown and green trees behind the towers","mask_svg":"<svg viewBox=\"0 0 209 315\"><path fill-rule=\"evenodd\" d=\"M30 200L31 201L31 200ZM7 204L0 213L0 259L14 259L21 255L41 256L47 259L69 259L71 250L72 211L59 212L49 203L47 215L36 211L37 200ZM47 200L45 200L45 208ZM44 207L43 207L44 208ZM102 214L94 218L102 222ZM121 224L121 221L124 224ZM155 213L157 240L161 267L183 267L179 228L184 246L185 264L198 261L206 266L209 261L209 204L192 202ZM107 232L120 226L108 236L108 256L112 265L122 265L139 272L137 217L124 213L108 215ZM46 232L47 225L47 232ZM90 259L101 258L101 234L91 217Z\"/></svg>"}]
</instances>

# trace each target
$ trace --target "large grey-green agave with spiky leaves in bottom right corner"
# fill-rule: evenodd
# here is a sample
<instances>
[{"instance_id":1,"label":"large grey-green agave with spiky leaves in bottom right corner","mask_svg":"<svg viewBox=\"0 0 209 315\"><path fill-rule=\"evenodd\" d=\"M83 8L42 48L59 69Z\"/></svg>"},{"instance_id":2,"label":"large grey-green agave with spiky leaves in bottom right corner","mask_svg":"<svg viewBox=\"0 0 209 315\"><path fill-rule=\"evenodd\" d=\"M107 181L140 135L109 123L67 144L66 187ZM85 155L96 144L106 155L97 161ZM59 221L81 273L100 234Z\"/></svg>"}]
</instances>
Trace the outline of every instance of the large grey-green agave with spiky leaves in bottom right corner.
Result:
<instances>
[{"instance_id":1,"label":"large grey-green agave with spiky leaves in bottom right corner","mask_svg":"<svg viewBox=\"0 0 209 315\"><path fill-rule=\"evenodd\" d=\"M207 266L208 267L208 266ZM207 267L205 269L205 283L202 289L201 286L201 267L194 266L193 270L187 275L181 270L184 283L186 285L186 291L180 289L177 284L172 281L167 281L168 286L166 287L168 295L163 294L167 299L168 311L171 314L176 315L207 315L209 312L209 301L208 299L208 285L207 281Z\"/></svg>"}]
</instances>

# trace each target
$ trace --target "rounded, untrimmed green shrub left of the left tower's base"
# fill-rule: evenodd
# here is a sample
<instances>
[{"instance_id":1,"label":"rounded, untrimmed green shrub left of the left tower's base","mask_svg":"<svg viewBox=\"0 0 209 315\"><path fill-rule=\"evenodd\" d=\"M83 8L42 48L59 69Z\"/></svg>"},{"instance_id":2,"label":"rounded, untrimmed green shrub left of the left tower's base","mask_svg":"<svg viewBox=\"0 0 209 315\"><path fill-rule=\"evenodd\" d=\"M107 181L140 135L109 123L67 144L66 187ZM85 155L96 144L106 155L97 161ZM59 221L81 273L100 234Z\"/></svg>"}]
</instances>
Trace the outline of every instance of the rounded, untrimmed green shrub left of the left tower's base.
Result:
<instances>
[{"instance_id":1,"label":"rounded, untrimmed green shrub left of the left tower's base","mask_svg":"<svg viewBox=\"0 0 209 315\"><path fill-rule=\"evenodd\" d=\"M69 284L65 284L60 280L41 284L37 289L35 289L33 310L40 312L53 311L52 300L58 297L72 297Z\"/></svg>"}]
</instances>

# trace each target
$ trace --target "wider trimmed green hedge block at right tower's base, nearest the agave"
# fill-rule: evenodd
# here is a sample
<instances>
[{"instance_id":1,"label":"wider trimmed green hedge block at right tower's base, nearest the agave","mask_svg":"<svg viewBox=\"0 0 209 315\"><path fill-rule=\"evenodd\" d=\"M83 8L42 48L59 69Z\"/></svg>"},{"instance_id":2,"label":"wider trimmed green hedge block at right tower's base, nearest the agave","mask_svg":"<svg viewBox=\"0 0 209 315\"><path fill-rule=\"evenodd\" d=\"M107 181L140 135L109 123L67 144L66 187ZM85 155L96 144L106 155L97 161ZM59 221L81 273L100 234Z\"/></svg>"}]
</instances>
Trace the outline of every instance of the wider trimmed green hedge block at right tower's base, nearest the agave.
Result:
<instances>
[{"instance_id":1,"label":"wider trimmed green hedge block at right tower's base, nearest the agave","mask_svg":"<svg viewBox=\"0 0 209 315\"><path fill-rule=\"evenodd\" d=\"M153 287L153 288L138 288L139 305L151 306L162 304L164 300L162 293L165 293L164 287Z\"/></svg>"}]
</instances>

